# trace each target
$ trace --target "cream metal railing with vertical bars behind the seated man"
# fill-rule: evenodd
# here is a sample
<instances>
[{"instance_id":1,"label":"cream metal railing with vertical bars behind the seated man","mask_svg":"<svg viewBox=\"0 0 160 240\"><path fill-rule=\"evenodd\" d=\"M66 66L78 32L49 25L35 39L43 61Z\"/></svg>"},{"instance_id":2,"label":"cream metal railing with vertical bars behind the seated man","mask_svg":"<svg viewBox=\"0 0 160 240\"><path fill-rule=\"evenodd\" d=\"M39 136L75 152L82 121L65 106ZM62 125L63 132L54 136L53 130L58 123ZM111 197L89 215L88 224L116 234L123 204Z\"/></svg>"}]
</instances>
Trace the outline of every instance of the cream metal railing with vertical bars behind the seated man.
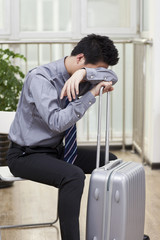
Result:
<instances>
[{"instance_id":1,"label":"cream metal railing with vertical bars behind the seated man","mask_svg":"<svg viewBox=\"0 0 160 240\"><path fill-rule=\"evenodd\" d=\"M18 64L22 67L22 70L27 71L37 65L45 64L56 59L62 58L70 54L71 49L78 41L76 40L56 40L56 41L0 41L0 48L10 48L15 52L23 54L27 61ZM144 157L144 125L145 125L145 51L146 47L152 45L152 41L148 39L129 39L129 40L114 40L114 43L120 50L120 65L113 67L113 70L119 73L119 86L120 93L119 99L113 94L111 98L111 126L110 126L110 141L111 144L122 145L122 149L125 150L126 145L132 145L133 149L139 150ZM128 46L130 53L128 53ZM131 61L130 76L132 82L130 83L132 89L128 89L128 61ZM117 73L117 74L118 74ZM119 90L116 90L119 91ZM130 91L128 97L127 92ZM128 99L129 98L129 99ZM132 99L133 98L133 99ZM127 127L128 124L128 108L127 102L130 101L130 113L133 115L133 120L130 120L130 136L128 137ZM105 99L103 100L105 104ZM138 107L137 107L138 106ZM126 109L127 108L127 109ZM91 127L91 119L97 115L97 107L91 112L87 112L83 123L78 124L79 136L83 132L83 136L80 136L79 142L83 144L95 144L96 143L96 126L94 124L93 129ZM120 118L116 119L120 121L121 130L116 129L115 116L116 111L119 111ZM92 118L91 118L92 115ZM138 116L138 118L137 118ZM96 120L94 120L96 123ZM131 129L132 128L132 129ZM85 129L85 130L84 130ZM117 132L116 132L117 131ZM118 134L117 134L118 133ZM102 141L104 136L102 134Z\"/></svg>"}]
</instances>

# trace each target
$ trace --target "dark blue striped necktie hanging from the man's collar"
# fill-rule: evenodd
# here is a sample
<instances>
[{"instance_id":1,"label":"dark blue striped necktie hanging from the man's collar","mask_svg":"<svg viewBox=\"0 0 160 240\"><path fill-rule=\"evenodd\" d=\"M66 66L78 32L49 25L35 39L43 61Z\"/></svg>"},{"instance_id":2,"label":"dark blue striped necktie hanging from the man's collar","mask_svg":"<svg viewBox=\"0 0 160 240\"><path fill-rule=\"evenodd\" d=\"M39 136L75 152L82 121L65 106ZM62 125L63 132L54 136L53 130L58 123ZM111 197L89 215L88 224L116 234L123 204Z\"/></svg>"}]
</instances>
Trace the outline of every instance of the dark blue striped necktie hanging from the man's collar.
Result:
<instances>
[{"instance_id":1,"label":"dark blue striped necktie hanging from the man's collar","mask_svg":"<svg viewBox=\"0 0 160 240\"><path fill-rule=\"evenodd\" d=\"M66 106L69 101L66 100ZM64 161L73 164L77 157L77 129L76 124L65 131Z\"/></svg>"}]
</instances>

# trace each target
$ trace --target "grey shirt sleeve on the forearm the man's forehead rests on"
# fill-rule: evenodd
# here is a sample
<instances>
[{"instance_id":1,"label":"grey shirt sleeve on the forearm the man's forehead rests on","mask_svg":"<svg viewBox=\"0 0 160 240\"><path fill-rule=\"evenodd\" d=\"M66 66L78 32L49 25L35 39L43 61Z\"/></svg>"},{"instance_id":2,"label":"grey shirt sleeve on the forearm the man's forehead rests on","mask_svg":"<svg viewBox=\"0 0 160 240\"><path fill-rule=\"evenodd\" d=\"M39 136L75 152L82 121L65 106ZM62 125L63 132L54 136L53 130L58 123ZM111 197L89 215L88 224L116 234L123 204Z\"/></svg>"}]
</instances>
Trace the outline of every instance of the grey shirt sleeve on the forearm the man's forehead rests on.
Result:
<instances>
[{"instance_id":1,"label":"grey shirt sleeve on the forearm the man's forehead rests on","mask_svg":"<svg viewBox=\"0 0 160 240\"><path fill-rule=\"evenodd\" d=\"M100 81L112 81L114 85L117 81L117 75L111 69L107 68L85 68L86 76L84 80L89 81L91 84L97 84Z\"/></svg>"}]
</instances>

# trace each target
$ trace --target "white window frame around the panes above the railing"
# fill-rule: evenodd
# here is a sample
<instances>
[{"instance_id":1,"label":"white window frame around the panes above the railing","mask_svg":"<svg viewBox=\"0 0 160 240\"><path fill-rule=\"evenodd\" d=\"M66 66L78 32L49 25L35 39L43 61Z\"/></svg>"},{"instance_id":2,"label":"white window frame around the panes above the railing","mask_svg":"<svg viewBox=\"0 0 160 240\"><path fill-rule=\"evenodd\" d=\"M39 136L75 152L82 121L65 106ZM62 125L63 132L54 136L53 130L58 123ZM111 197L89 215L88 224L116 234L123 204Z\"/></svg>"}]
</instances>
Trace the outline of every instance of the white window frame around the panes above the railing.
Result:
<instances>
[{"instance_id":1,"label":"white window frame around the panes above the railing","mask_svg":"<svg viewBox=\"0 0 160 240\"><path fill-rule=\"evenodd\" d=\"M71 32L24 32L20 31L20 0L5 0L7 16L5 16L5 30L0 31L1 39L80 39L86 34L107 34L112 38L139 37L139 1L131 2L131 27L130 28L88 28L87 27L87 0L72 0L72 30ZM141 0L142 1L142 0ZM78 16L78 17L77 17Z\"/></svg>"}]
</instances>

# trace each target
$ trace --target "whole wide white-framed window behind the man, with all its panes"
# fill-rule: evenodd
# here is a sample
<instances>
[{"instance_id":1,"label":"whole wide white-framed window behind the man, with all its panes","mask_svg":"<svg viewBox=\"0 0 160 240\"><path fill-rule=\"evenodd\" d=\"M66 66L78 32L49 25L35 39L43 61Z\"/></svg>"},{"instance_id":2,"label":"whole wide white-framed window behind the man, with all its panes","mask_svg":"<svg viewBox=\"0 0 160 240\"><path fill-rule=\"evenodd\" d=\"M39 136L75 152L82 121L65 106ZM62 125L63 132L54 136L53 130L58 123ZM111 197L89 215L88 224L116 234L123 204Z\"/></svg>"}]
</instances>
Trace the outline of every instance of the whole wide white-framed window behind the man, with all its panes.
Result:
<instances>
[{"instance_id":1,"label":"whole wide white-framed window behind the man, with all its panes","mask_svg":"<svg viewBox=\"0 0 160 240\"><path fill-rule=\"evenodd\" d=\"M145 4L148 0L143 1ZM138 0L0 0L0 37L137 37ZM144 16L147 24L147 16ZM7 38L7 37L5 37Z\"/></svg>"}]
</instances>

